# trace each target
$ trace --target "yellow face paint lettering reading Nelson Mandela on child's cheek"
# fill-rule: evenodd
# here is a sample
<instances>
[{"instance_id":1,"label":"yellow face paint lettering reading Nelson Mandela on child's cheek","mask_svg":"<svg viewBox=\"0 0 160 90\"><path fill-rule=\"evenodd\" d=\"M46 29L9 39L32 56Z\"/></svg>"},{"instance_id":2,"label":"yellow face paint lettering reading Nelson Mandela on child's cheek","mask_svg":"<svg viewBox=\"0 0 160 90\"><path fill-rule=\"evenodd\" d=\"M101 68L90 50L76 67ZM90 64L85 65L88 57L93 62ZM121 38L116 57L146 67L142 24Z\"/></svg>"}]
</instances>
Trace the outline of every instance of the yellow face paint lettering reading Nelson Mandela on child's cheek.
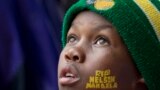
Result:
<instances>
[{"instance_id":1,"label":"yellow face paint lettering reading Nelson Mandela on child's cheek","mask_svg":"<svg viewBox=\"0 0 160 90\"><path fill-rule=\"evenodd\" d=\"M95 76L90 76L86 89L116 89L118 83L116 76L111 75L110 69L96 70Z\"/></svg>"}]
</instances>

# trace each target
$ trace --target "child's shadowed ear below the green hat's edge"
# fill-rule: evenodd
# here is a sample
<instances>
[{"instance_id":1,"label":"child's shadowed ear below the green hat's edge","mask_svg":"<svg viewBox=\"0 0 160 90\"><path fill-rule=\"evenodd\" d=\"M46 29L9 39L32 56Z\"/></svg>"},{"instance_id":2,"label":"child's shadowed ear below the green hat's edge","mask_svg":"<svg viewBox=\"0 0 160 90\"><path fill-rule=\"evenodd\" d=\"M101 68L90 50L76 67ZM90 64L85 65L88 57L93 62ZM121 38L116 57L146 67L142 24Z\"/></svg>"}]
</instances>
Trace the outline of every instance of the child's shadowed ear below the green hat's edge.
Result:
<instances>
[{"instance_id":1,"label":"child's shadowed ear below the green hat's edge","mask_svg":"<svg viewBox=\"0 0 160 90\"><path fill-rule=\"evenodd\" d=\"M134 90L148 90L147 85L143 78L137 80L137 82L134 85Z\"/></svg>"}]
</instances>

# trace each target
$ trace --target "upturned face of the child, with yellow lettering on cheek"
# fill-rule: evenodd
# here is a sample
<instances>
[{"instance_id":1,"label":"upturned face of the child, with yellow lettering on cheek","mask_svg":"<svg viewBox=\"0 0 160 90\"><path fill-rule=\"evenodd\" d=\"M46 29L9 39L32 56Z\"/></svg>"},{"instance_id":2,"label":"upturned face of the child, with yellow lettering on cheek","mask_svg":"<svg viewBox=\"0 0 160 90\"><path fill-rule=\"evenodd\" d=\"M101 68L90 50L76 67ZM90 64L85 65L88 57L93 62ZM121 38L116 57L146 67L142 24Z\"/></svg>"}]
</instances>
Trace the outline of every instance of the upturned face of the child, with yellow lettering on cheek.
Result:
<instances>
[{"instance_id":1,"label":"upturned face of the child, with yellow lettering on cheek","mask_svg":"<svg viewBox=\"0 0 160 90\"><path fill-rule=\"evenodd\" d=\"M76 16L58 66L60 90L133 90L140 78L114 26L96 13Z\"/></svg>"}]
</instances>

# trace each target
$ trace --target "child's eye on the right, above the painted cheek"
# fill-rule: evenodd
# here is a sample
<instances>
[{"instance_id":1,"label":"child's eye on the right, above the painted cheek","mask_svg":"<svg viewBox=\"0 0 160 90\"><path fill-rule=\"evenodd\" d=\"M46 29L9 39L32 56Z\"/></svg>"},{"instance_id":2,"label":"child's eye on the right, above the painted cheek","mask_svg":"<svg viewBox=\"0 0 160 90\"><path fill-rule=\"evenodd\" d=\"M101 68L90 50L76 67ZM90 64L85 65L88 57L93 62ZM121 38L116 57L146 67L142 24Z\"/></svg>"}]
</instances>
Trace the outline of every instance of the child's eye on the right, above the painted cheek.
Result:
<instances>
[{"instance_id":1,"label":"child's eye on the right, above the painted cheek","mask_svg":"<svg viewBox=\"0 0 160 90\"><path fill-rule=\"evenodd\" d=\"M97 40L94 44L96 46L105 46L105 45L108 45L109 42L105 37L99 37L99 38L97 38Z\"/></svg>"}]
</instances>

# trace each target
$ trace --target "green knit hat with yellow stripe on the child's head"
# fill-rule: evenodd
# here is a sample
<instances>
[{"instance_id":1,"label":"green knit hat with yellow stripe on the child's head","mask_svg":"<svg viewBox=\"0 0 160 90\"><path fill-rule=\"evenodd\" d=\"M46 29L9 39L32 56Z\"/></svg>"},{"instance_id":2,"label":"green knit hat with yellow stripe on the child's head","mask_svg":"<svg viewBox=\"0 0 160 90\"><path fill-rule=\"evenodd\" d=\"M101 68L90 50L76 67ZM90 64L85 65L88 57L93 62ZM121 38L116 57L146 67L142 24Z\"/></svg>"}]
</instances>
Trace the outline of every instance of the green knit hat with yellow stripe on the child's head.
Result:
<instances>
[{"instance_id":1,"label":"green knit hat with yellow stripe on the child's head","mask_svg":"<svg viewBox=\"0 0 160 90\"><path fill-rule=\"evenodd\" d=\"M79 0L66 13L62 43L73 19L98 13L117 29L149 90L160 90L160 0Z\"/></svg>"}]
</instances>

